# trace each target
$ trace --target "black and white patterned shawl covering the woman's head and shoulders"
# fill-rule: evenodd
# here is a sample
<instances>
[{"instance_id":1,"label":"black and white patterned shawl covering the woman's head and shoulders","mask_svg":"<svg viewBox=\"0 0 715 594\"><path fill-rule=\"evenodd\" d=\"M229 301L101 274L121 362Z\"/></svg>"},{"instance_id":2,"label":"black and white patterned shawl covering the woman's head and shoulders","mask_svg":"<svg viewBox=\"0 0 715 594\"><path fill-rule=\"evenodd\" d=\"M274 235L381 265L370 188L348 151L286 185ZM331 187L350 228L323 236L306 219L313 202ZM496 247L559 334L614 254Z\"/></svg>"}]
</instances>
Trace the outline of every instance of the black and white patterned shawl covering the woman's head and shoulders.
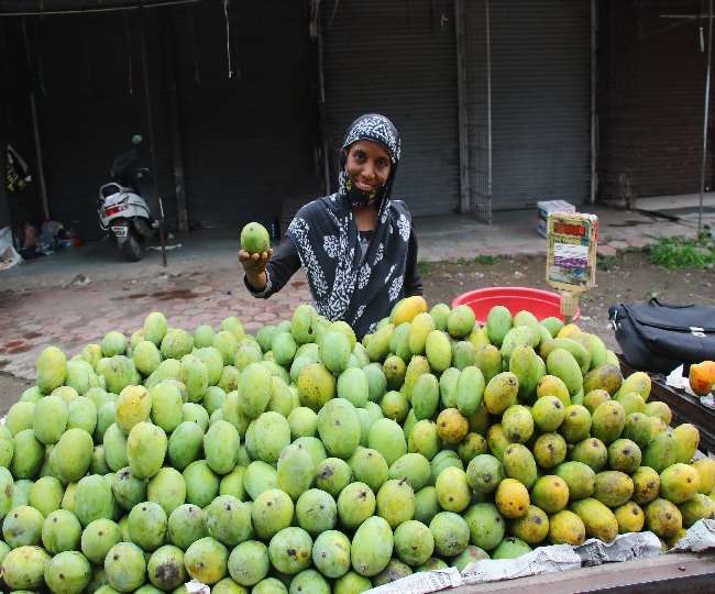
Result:
<instances>
[{"instance_id":1,"label":"black and white patterned shawl covering the woman's head and shoulders","mask_svg":"<svg viewBox=\"0 0 715 594\"><path fill-rule=\"evenodd\" d=\"M381 144L392 160L364 258L345 189L348 147L359 140ZM399 154L399 135L387 118L370 113L355 120L342 145L338 191L304 206L286 232L298 250L318 312L346 321L361 338L374 331L404 295L413 223L407 206L391 199Z\"/></svg>"}]
</instances>

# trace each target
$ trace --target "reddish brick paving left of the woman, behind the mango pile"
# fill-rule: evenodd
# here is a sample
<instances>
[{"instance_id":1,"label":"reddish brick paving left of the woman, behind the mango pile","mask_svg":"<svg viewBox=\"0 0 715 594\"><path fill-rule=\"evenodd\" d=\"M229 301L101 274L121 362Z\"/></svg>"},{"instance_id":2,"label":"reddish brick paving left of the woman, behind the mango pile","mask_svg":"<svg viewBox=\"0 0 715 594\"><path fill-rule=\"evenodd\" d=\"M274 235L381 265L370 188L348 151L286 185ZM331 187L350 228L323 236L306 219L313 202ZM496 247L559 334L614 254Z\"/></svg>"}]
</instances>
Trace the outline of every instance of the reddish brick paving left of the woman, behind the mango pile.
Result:
<instances>
[{"instance_id":1,"label":"reddish brick paving left of the woman, behind the mango pile","mask_svg":"<svg viewBox=\"0 0 715 594\"><path fill-rule=\"evenodd\" d=\"M194 330L238 316L250 331L288 317L310 300L296 276L278 298L255 299L239 284L237 270L101 280L86 286L0 294L0 371L33 378L34 360L47 344L73 355L109 330L131 334L146 314L163 311L172 326Z\"/></svg>"}]
</instances>

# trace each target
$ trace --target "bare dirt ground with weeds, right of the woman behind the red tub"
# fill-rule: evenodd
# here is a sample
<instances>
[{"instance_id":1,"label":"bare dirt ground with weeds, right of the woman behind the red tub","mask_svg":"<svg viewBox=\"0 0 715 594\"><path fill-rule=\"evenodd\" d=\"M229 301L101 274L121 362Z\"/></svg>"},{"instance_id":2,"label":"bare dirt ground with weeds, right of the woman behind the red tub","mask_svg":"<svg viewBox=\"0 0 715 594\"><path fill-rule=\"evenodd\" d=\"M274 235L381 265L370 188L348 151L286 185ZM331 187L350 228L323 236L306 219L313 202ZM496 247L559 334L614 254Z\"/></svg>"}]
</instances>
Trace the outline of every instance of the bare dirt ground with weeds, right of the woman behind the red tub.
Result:
<instances>
[{"instance_id":1,"label":"bare dirt ground with weeds, right of the woman behind the red tub","mask_svg":"<svg viewBox=\"0 0 715 594\"><path fill-rule=\"evenodd\" d=\"M672 304L715 301L715 271L668 271L651 264L645 252L626 252L596 272L597 286L581 299L579 326L598 334L619 351L608 324L608 308L657 297ZM496 257L493 264L422 264L425 296L430 304L450 304L459 294L493 286L524 286L551 290L544 280L543 257Z\"/></svg>"}]
</instances>

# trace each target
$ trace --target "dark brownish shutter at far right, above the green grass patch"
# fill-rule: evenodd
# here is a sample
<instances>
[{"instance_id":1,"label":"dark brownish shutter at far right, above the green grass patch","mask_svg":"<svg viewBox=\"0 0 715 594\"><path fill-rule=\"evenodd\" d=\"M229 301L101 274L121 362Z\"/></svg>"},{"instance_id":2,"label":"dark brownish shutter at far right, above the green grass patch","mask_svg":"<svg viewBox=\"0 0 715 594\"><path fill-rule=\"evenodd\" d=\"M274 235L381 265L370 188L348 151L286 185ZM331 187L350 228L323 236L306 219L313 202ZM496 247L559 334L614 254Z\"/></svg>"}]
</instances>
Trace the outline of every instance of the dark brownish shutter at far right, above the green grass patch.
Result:
<instances>
[{"instance_id":1,"label":"dark brownish shutter at far right, above the green grass patch","mask_svg":"<svg viewBox=\"0 0 715 594\"><path fill-rule=\"evenodd\" d=\"M698 14L703 7L697 0L601 3L601 199L700 191L706 55L698 30L704 28L706 43L707 21L661 15ZM714 116L711 111L711 125ZM711 188L713 173L711 142Z\"/></svg>"}]
</instances>

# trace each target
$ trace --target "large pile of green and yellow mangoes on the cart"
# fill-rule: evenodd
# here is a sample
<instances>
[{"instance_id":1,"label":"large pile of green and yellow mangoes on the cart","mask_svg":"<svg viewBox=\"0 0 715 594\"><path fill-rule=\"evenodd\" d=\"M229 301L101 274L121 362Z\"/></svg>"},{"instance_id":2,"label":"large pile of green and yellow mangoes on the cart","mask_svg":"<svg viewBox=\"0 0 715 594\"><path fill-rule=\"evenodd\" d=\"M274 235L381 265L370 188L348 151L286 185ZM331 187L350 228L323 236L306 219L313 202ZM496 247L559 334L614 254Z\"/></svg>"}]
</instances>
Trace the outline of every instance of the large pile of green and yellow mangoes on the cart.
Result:
<instances>
[{"instance_id":1,"label":"large pile of green and yellow mangoes on the cart","mask_svg":"<svg viewBox=\"0 0 715 594\"><path fill-rule=\"evenodd\" d=\"M398 302L50 346L0 428L3 591L364 592L715 515L715 461L594 334Z\"/></svg>"}]
</instances>

